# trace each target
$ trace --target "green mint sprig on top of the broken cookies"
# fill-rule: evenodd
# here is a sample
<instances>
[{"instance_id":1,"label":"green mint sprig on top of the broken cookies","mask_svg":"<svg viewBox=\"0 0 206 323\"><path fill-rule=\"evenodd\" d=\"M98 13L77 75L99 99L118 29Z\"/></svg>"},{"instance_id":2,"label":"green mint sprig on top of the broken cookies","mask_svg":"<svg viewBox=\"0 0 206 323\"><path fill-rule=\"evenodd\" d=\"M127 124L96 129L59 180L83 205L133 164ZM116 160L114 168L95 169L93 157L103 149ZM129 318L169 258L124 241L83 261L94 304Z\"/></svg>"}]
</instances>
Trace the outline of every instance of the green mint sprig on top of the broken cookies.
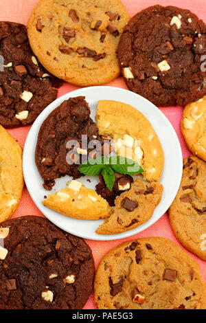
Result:
<instances>
[{"instance_id":1,"label":"green mint sprig on top of the broken cookies","mask_svg":"<svg viewBox=\"0 0 206 323\"><path fill-rule=\"evenodd\" d=\"M106 187L109 190L113 189L115 183L115 172L124 175L138 175L144 172L143 168L136 163L136 161L113 155L109 158L105 156L98 157L95 159L89 159L87 163L80 165L78 168L84 175L99 175L102 174Z\"/></svg>"}]
</instances>

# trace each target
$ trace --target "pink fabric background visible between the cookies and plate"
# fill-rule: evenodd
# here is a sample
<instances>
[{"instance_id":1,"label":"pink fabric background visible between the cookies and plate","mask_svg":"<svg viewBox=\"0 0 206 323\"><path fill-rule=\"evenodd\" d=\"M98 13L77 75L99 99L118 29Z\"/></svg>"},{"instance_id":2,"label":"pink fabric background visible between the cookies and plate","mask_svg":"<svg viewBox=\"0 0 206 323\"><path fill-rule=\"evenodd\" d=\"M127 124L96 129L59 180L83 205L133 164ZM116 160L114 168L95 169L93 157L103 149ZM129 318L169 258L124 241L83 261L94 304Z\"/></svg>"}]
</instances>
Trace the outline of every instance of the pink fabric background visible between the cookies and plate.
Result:
<instances>
[{"instance_id":1,"label":"pink fabric background visible between the cookies and plate","mask_svg":"<svg viewBox=\"0 0 206 323\"><path fill-rule=\"evenodd\" d=\"M109 1L109 0L108 0ZM181 8L187 8L192 10L195 14L199 16L199 18L203 19L206 22L206 1L205 0L122 0L128 13L130 16L133 16L140 10L149 7L150 5L160 4L160 5L176 5ZM14 21L18 23L27 24L27 20L32 12L32 8L38 3L38 0L0 0L0 21ZM117 78L113 82L108 85L113 87L122 87L126 89L126 85L124 84L124 80L122 78ZM73 91L77 89L77 87L73 85L69 85L65 83L63 87L59 90L58 96L62 96L63 94ZM168 117L172 126L179 137L181 142L181 147L183 151L183 157L187 157L190 152L187 150L187 146L185 145L185 141L183 140L183 136L180 131L180 120L183 112L183 108L181 107L170 107L170 108L161 108L161 111ZM23 147L25 143L25 139L27 137L27 133L30 131L30 126L19 129L10 130L11 135L19 141L21 146ZM23 197L21 199L21 203L19 205L18 210L16 210L13 217L16 216L25 216L25 215L38 215L43 216L41 212L34 205L30 194L27 192L27 188L24 188ZM180 245L172 232L172 228L170 226L170 222L168 219L168 214L164 214L157 223L149 227L144 232L140 234L136 234L130 238L122 239L121 241L87 241L90 245L93 256L95 258L95 265L98 265L102 256L112 247L119 245L124 241L130 240L132 238L141 238L148 236L163 236L165 238L169 238L174 241L177 245ZM181 246L181 245L180 245ZM182 247L182 246L181 246ZM183 248L183 247L182 247ZM184 249L184 248L183 248ZM203 260L200 260L198 257L191 254L193 258L195 258L199 265L201 266L201 272L205 278L206 282L206 263ZM87 304L84 309L95 309L95 305L93 303L93 295L90 296Z\"/></svg>"}]
</instances>

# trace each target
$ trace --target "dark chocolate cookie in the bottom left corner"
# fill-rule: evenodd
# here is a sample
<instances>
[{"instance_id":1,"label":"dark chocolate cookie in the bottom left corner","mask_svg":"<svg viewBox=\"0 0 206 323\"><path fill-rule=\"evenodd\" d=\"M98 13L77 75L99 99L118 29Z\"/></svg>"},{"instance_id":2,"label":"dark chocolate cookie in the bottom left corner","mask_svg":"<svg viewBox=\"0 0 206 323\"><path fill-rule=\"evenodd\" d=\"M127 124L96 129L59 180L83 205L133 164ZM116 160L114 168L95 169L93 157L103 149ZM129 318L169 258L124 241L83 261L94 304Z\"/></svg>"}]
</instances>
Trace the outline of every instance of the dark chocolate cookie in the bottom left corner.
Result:
<instances>
[{"instance_id":1,"label":"dark chocolate cookie in the bottom left corner","mask_svg":"<svg viewBox=\"0 0 206 323\"><path fill-rule=\"evenodd\" d=\"M0 309L82 309L93 288L89 246L38 216L1 225Z\"/></svg>"}]
</instances>

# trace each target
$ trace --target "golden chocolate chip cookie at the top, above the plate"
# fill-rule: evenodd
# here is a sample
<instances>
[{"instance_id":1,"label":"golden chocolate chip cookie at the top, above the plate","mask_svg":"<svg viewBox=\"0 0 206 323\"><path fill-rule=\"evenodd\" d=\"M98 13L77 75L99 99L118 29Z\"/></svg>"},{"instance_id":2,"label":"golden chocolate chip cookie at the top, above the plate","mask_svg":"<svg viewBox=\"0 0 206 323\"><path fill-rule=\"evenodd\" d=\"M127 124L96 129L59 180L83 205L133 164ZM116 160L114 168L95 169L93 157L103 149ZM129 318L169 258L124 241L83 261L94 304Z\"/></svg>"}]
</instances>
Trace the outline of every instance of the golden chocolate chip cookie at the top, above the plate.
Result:
<instances>
[{"instance_id":1,"label":"golden chocolate chip cookie at the top, above the plate","mask_svg":"<svg viewBox=\"0 0 206 323\"><path fill-rule=\"evenodd\" d=\"M102 85L119 76L117 45L129 19L119 0L41 0L28 36L38 59L58 78Z\"/></svg>"}]
</instances>

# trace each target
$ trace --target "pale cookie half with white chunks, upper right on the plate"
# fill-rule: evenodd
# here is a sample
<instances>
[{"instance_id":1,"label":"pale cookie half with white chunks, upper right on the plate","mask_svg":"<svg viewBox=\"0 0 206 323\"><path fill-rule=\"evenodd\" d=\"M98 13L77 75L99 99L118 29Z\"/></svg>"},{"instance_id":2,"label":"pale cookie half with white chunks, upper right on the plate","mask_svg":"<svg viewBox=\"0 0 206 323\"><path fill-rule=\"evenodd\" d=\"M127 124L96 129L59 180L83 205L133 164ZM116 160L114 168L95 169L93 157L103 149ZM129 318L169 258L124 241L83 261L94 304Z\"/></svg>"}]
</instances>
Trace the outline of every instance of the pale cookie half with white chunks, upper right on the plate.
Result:
<instances>
[{"instance_id":1,"label":"pale cookie half with white chunks, upper right on the plate","mask_svg":"<svg viewBox=\"0 0 206 323\"><path fill-rule=\"evenodd\" d=\"M96 115L100 135L113 138L118 155L134 159L144 169L144 179L159 181L164 164L161 144L146 117L122 102L100 100Z\"/></svg>"}]
</instances>

